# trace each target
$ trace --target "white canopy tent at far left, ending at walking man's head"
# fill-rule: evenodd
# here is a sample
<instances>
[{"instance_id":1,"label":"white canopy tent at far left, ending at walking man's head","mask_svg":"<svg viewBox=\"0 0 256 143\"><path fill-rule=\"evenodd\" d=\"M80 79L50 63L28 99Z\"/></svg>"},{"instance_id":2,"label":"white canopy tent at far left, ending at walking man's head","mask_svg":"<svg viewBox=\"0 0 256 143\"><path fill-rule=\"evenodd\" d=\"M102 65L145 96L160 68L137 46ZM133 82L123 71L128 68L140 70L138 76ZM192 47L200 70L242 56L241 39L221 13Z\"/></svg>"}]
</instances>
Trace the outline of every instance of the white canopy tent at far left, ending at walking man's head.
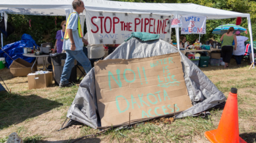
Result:
<instances>
[{"instance_id":1,"label":"white canopy tent at far left, ending at walking man's head","mask_svg":"<svg viewBox=\"0 0 256 143\"><path fill-rule=\"evenodd\" d=\"M6 24L6 14L67 16L73 10L72 2L73 0L2 0L0 1L0 14L4 15ZM85 21L85 17L82 15L80 15L80 19ZM84 22L81 25L84 26Z\"/></svg>"}]
</instances>

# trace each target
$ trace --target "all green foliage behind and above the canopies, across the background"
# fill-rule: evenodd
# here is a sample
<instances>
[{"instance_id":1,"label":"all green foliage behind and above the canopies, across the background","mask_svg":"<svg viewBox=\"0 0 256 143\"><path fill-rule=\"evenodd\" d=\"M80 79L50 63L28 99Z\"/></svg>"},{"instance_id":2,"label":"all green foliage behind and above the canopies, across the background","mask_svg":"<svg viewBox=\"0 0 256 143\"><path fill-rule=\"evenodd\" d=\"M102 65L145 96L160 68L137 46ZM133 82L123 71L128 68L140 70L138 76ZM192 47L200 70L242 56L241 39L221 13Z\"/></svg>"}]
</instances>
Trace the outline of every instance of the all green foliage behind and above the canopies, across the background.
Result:
<instances>
[{"instance_id":1,"label":"all green foliage behind and above the canopies, across the background","mask_svg":"<svg viewBox=\"0 0 256 143\"><path fill-rule=\"evenodd\" d=\"M252 34L256 36L256 2L250 0L115 0L123 2L152 2L152 3L194 3L202 6L213 7L215 9L232 10L234 12L242 12L250 14L252 23ZM11 34L7 39L4 39L4 45L15 41L20 41L22 34L30 34L37 44L44 42L55 43L55 36L57 30L61 29L60 23L65 20L65 17L57 17L57 25L55 24L54 16L34 16L34 15L15 15L8 14L9 22L14 26L15 33ZM31 27L29 20L31 19ZM224 20L207 20L206 34L201 36L201 42L209 39L219 41L220 35L212 34L212 31L217 26L223 24L235 24L236 18L229 18ZM242 18L241 26L247 28L248 34L242 33L242 36L249 37L249 29L247 18ZM86 31L86 26L85 26ZM171 32L171 39L176 42L175 30ZM199 38L198 34L186 35L189 42Z\"/></svg>"}]
</instances>

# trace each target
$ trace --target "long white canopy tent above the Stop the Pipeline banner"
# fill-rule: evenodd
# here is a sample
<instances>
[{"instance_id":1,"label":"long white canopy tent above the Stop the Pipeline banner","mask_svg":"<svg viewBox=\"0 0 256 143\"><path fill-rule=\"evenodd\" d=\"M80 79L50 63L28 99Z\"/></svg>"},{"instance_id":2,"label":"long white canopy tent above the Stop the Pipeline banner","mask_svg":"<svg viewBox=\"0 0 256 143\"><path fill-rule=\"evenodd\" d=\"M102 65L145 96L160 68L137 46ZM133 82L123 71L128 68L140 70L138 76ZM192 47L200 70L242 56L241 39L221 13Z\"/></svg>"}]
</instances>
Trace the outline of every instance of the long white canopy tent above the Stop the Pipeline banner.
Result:
<instances>
[{"instance_id":1,"label":"long white canopy tent above the Stop the Pipeline banner","mask_svg":"<svg viewBox=\"0 0 256 143\"><path fill-rule=\"evenodd\" d=\"M200 6L197 4L170 4L170 3L138 3L138 2L118 2L104 0L84 0L85 9L99 12L122 12L132 14L157 14L157 15L174 15L176 18L179 15L200 15L206 16L207 20L218 20L227 18L246 17L250 33L250 44L253 39L252 26L250 23L250 14L232 12L228 10L214 9L212 7ZM178 48L180 47L179 28L176 28L176 41ZM253 58L254 62L254 58Z\"/></svg>"}]
</instances>

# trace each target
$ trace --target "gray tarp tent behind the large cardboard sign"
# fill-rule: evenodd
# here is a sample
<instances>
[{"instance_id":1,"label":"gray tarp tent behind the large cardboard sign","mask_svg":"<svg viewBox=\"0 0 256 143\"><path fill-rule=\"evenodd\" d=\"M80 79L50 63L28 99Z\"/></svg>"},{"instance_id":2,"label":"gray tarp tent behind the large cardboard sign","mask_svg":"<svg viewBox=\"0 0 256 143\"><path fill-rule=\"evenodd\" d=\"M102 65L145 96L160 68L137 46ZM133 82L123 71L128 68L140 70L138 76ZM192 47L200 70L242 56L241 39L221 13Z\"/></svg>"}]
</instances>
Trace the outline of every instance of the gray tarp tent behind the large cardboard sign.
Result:
<instances>
[{"instance_id":1,"label":"gray tarp tent behind the large cardboard sign","mask_svg":"<svg viewBox=\"0 0 256 143\"><path fill-rule=\"evenodd\" d=\"M123 42L123 44L104 60L146 58L176 52L180 51L173 45L160 39L144 42L132 38L127 42ZM193 106L181 112L181 114L176 115L176 118L197 114L225 101L226 97L215 87L208 77L183 55L183 53L180 52L180 55L186 87ZM68 109L67 117L71 121L75 120L92 128L101 126L97 109L94 68L81 81L75 99Z\"/></svg>"}]
</instances>

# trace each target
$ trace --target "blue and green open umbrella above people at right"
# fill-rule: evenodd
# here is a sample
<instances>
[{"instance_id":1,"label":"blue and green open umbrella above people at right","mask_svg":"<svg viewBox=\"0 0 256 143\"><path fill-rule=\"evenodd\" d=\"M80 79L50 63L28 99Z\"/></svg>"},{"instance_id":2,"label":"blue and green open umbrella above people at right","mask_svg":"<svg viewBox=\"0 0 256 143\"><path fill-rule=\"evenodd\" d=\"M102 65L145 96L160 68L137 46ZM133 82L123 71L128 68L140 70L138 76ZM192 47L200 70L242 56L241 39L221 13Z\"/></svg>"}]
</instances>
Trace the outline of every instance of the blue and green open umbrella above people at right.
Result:
<instances>
[{"instance_id":1,"label":"blue and green open umbrella above people at right","mask_svg":"<svg viewBox=\"0 0 256 143\"><path fill-rule=\"evenodd\" d=\"M244 31L246 31L246 28L243 28L242 26L228 24L228 25L220 25L220 26L218 26L217 28L213 29L212 33L213 34L224 34L224 33L228 32L228 29L230 27L234 28L234 33L236 31L240 31L240 33L243 33Z\"/></svg>"}]
</instances>

